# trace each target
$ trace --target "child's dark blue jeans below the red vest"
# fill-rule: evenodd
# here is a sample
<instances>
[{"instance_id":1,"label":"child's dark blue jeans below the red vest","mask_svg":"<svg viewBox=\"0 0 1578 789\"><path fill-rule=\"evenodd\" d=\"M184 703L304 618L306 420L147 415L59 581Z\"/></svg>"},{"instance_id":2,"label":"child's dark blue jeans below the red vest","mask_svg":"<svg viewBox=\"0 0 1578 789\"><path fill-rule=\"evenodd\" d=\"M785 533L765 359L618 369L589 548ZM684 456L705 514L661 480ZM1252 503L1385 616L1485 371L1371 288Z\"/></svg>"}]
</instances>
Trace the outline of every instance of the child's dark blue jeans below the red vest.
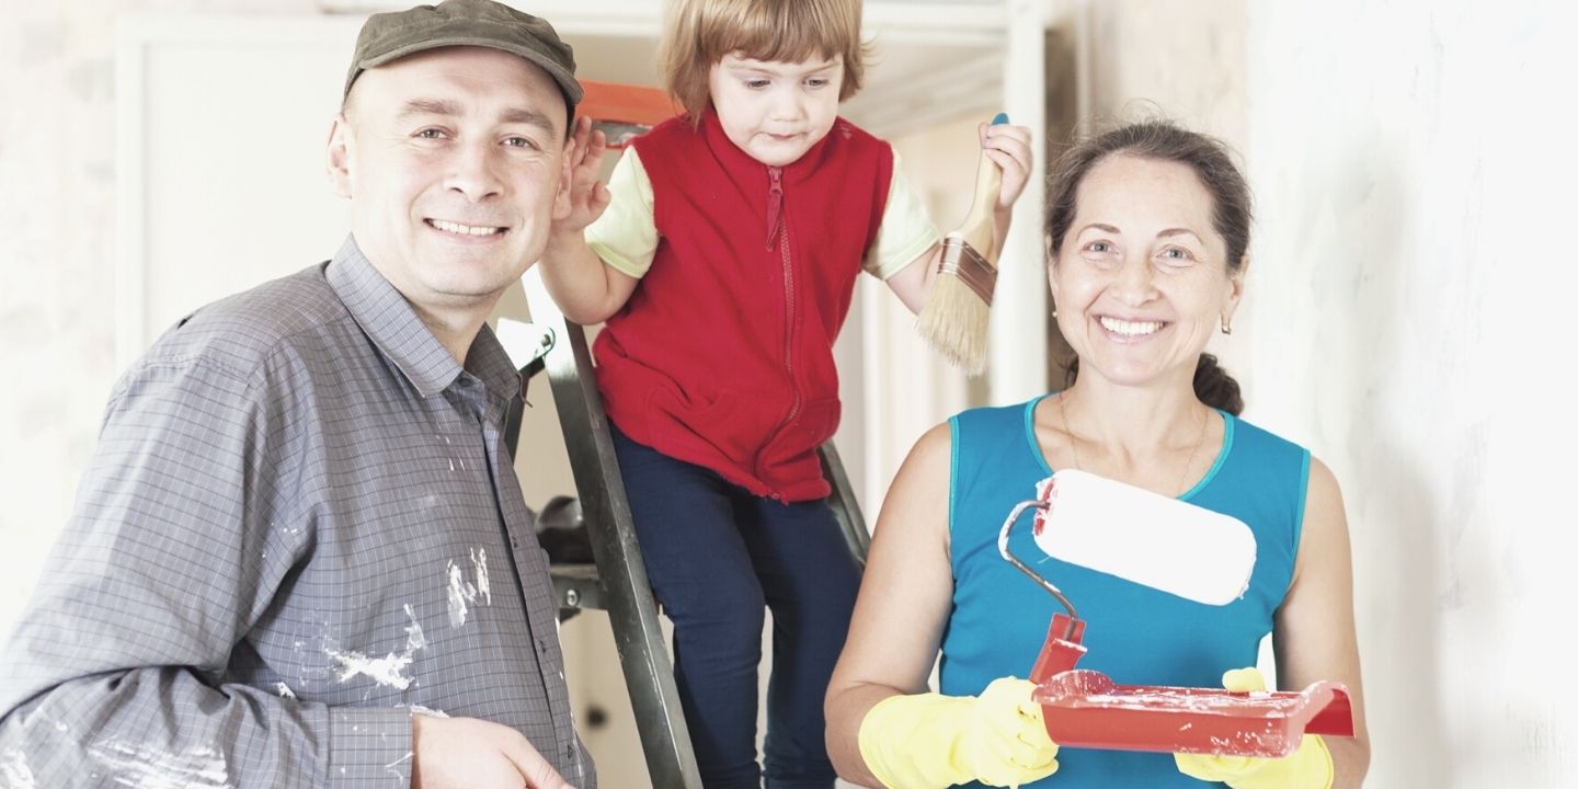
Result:
<instances>
[{"instance_id":1,"label":"child's dark blue jeans below the red vest","mask_svg":"<svg viewBox=\"0 0 1578 789\"><path fill-rule=\"evenodd\" d=\"M825 500L780 503L636 443L614 448L647 578L674 623L674 674L707 789L830 789L822 699L860 587ZM757 666L773 612L765 768Z\"/></svg>"}]
</instances>

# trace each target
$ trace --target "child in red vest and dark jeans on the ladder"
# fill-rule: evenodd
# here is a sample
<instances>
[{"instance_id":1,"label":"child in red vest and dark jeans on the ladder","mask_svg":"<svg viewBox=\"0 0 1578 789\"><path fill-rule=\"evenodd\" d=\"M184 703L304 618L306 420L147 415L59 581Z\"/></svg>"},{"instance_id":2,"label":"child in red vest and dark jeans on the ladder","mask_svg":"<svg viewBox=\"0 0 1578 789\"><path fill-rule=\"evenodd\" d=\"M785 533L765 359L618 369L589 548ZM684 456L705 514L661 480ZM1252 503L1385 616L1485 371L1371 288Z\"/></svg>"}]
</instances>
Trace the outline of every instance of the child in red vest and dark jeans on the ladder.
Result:
<instances>
[{"instance_id":1,"label":"child in red vest and dark jeans on the ladder","mask_svg":"<svg viewBox=\"0 0 1578 789\"><path fill-rule=\"evenodd\" d=\"M860 13L675 0L663 57L685 115L638 137L606 188L604 140L579 118L571 208L541 259L570 320L606 320L598 387L709 787L833 786L822 697L860 582L816 454L838 426L833 339L862 270L918 311L940 249L892 148L836 117L860 88ZM982 147L1004 170L1000 241L1029 131L983 128Z\"/></svg>"}]
</instances>

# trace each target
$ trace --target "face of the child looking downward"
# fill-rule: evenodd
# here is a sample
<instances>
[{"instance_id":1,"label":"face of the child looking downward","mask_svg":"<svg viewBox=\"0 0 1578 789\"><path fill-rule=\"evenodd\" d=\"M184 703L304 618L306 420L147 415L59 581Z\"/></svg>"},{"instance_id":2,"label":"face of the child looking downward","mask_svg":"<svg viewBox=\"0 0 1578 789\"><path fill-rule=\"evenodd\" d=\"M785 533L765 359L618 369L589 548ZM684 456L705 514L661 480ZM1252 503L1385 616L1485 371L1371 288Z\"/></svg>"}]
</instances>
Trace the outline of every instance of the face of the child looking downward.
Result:
<instances>
[{"instance_id":1,"label":"face of the child looking downward","mask_svg":"<svg viewBox=\"0 0 1578 789\"><path fill-rule=\"evenodd\" d=\"M724 134L770 167L794 163L833 128L843 85L843 57L783 63L735 52L713 65L709 77Z\"/></svg>"}]
</instances>

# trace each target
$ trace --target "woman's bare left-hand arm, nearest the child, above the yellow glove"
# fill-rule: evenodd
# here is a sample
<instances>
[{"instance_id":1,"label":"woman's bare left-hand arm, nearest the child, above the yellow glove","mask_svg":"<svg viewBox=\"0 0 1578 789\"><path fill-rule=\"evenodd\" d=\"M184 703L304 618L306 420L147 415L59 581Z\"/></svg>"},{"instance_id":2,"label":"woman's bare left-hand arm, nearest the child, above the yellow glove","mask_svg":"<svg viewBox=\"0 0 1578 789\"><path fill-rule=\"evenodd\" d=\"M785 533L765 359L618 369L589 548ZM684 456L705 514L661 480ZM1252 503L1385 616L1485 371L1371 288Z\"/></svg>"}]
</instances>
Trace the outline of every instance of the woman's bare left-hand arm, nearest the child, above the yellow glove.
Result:
<instances>
[{"instance_id":1,"label":"woman's bare left-hand arm, nearest the child, above the yellow glove","mask_svg":"<svg viewBox=\"0 0 1578 789\"><path fill-rule=\"evenodd\" d=\"M879 701L925 693L953 600L948 565L952 436L939 424L899 467L827 688L827 751L844 780L882 786L860 756L860 723Z\"/></svg>"}]
</instances>

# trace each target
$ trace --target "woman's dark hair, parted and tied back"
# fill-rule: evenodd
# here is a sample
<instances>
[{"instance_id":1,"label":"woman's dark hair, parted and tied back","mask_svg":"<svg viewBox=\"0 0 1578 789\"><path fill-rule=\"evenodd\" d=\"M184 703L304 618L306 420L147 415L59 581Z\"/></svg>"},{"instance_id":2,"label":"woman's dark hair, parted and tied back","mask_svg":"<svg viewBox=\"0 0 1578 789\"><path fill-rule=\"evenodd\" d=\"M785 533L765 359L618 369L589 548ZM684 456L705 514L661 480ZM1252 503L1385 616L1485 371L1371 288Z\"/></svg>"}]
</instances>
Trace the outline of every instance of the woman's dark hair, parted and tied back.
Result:
<instances>
[{"instance_id":1,"label":"woman's dark hair, parted and tied back","mask_svg":"<svg viewBox=\"0 0 1578 789\"><path fill-rule=\"evenodd\" d=\"M1212 197L1212 224L1228 246L1228 271L1243 267L1250 248L1250 186L1232 164L1228 147L1195 131L1161 120L1128 123L1076 142L1053 166L1046 183L1048 251L1056 257L1068 226L1075 221L1079 185L1101 161L1128 155L1142 159L1171 161L1188 166ZM1079 376L1079 360L1068 365L1068 383ZM1243 412L1239 382L1217 363L1217 357L1201 353L1195 368L1195 396L1207 406L1229 413Z\"/></svg>"}]
</instances>

